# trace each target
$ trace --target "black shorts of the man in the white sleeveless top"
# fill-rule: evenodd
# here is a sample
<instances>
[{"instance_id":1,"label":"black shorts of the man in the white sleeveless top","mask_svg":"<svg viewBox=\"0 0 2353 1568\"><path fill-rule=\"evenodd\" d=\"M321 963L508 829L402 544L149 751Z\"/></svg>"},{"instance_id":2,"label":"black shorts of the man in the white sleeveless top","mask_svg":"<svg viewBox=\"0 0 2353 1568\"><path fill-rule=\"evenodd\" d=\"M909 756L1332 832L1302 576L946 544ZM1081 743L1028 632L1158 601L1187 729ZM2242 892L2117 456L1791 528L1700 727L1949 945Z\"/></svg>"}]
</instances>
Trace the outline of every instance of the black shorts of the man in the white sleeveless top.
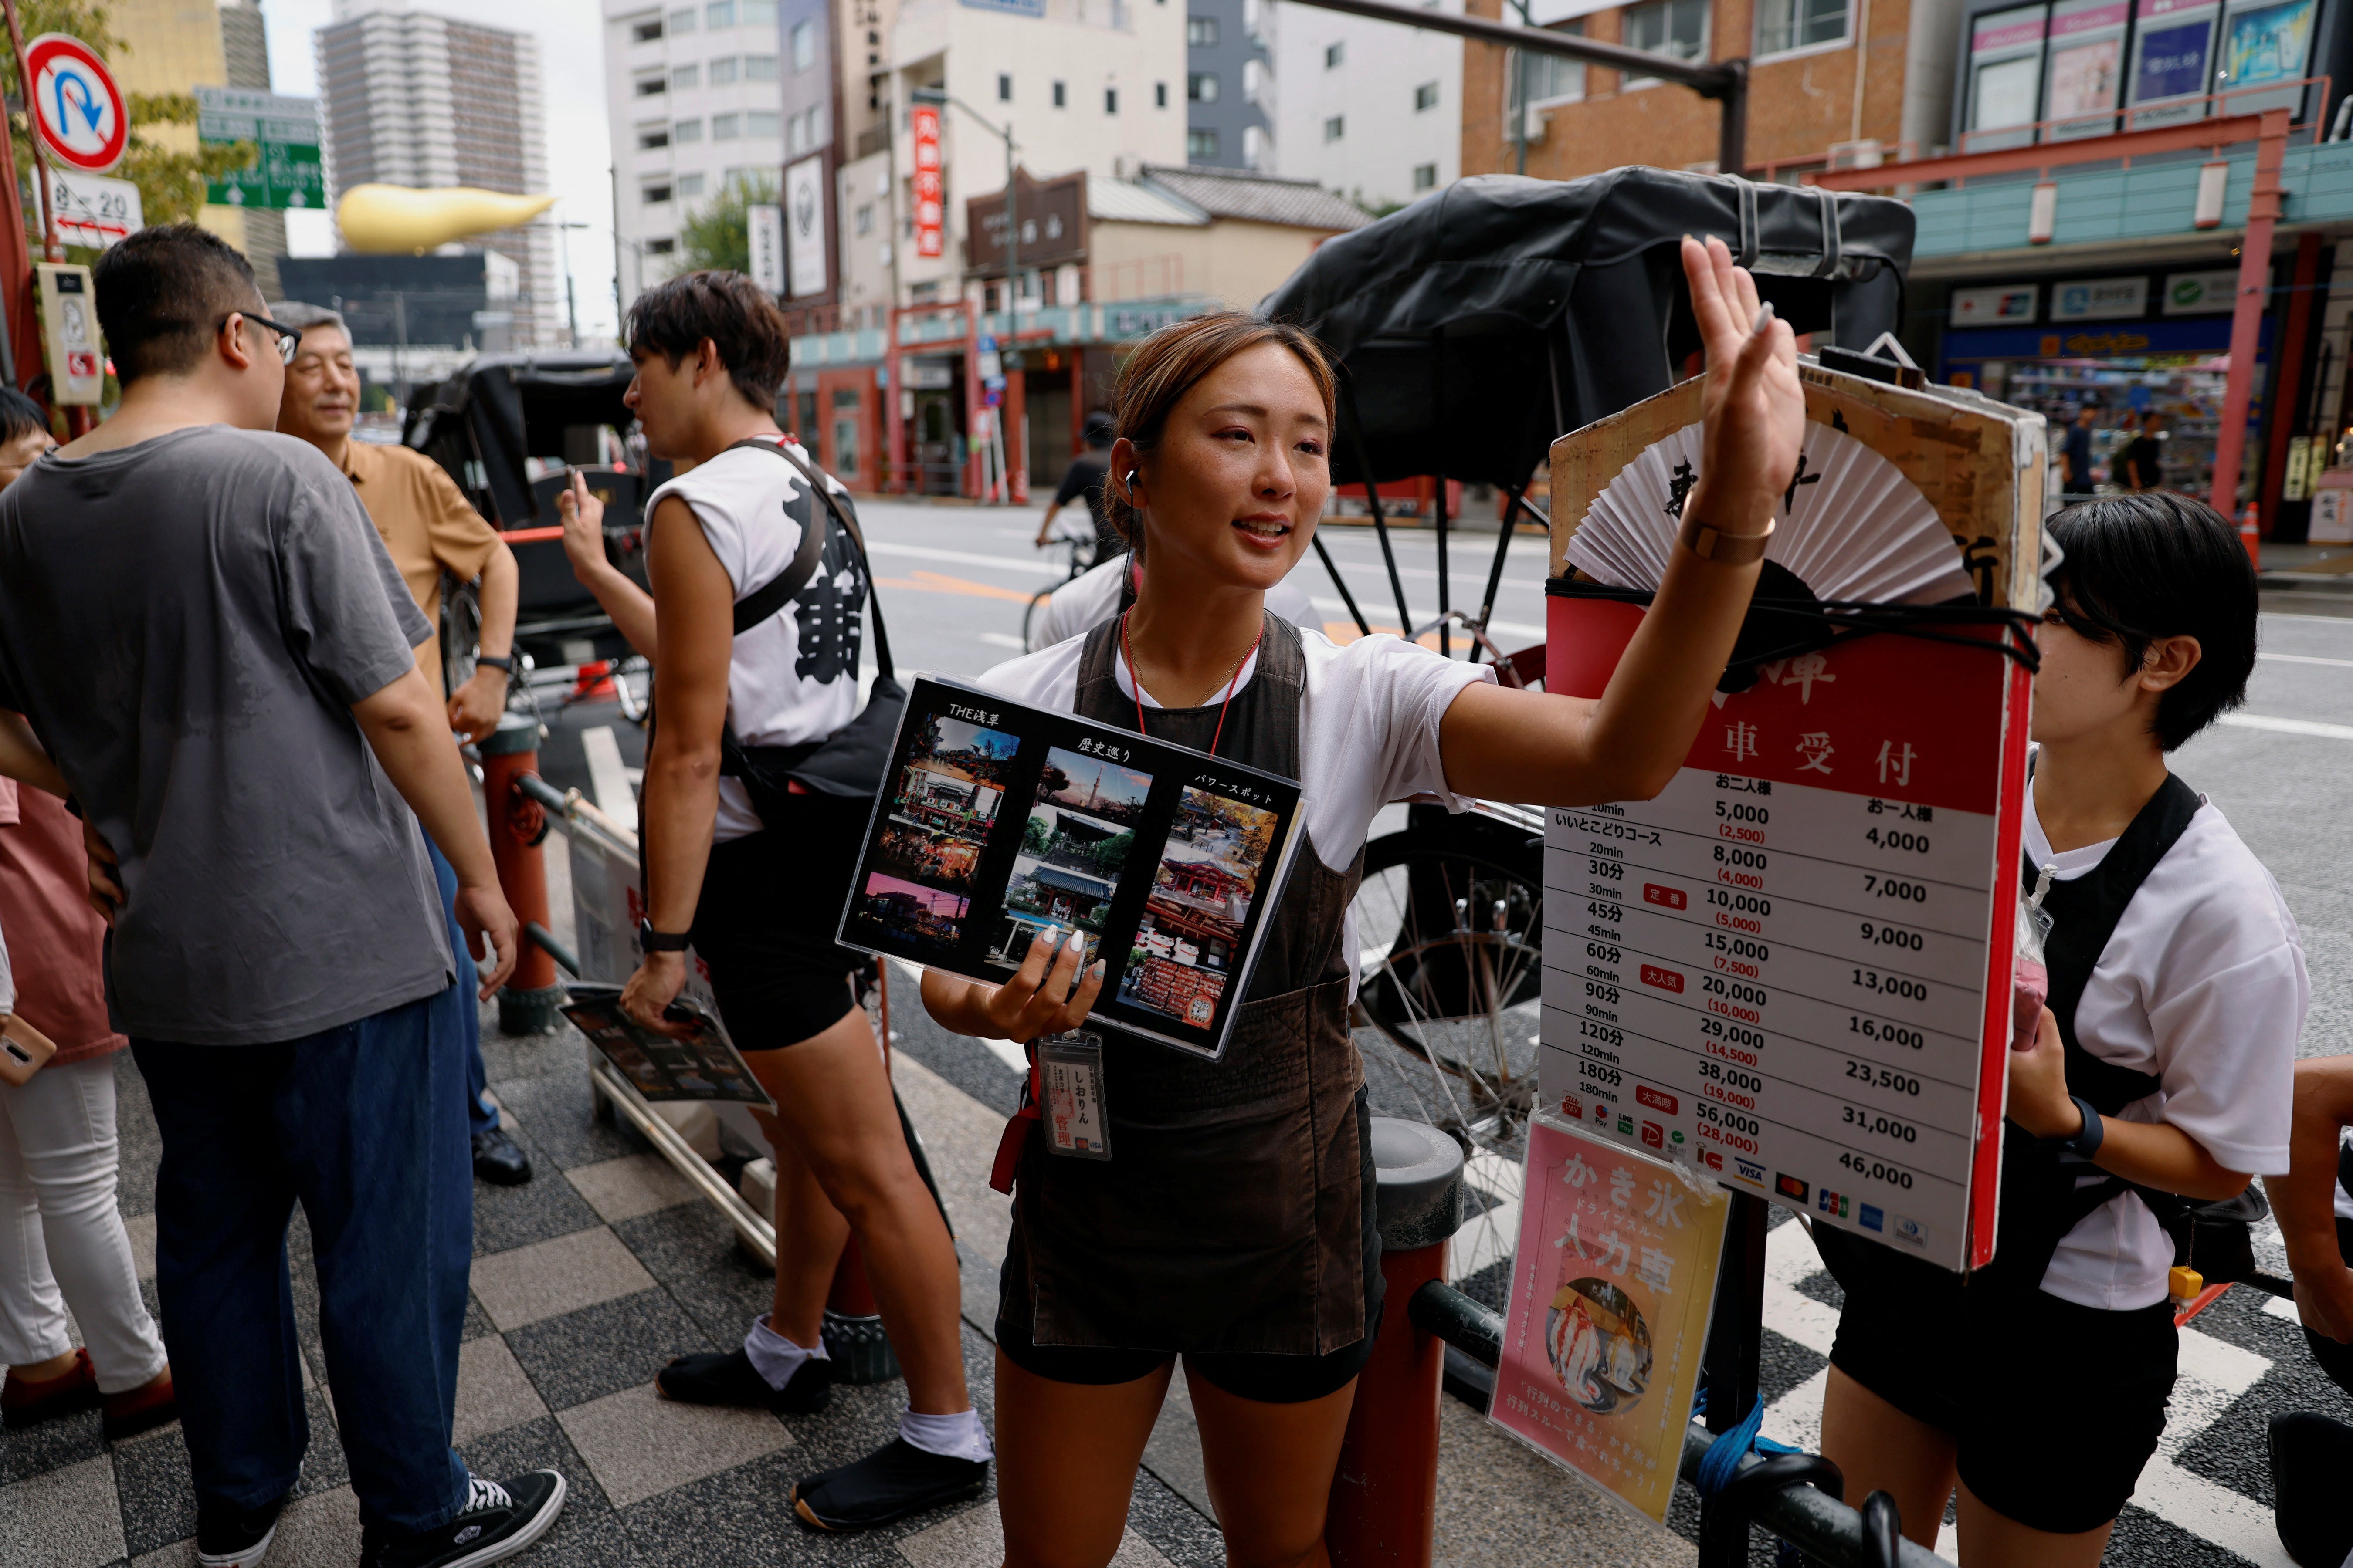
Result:
<instances>
[{"instance_id":1,"label":"black shorts of the man in the white sleeveless top","mask_svg":"<svg viewBox=\"0 0 2353 1568\"><path fill-rule=\"evenodd\" d=\"M824 1034L856 1011L866 954L835 943L866 839L868 799L795 795L795 816L711 846L694 952L736 1051Z\"/></svg>"}]
</instances>

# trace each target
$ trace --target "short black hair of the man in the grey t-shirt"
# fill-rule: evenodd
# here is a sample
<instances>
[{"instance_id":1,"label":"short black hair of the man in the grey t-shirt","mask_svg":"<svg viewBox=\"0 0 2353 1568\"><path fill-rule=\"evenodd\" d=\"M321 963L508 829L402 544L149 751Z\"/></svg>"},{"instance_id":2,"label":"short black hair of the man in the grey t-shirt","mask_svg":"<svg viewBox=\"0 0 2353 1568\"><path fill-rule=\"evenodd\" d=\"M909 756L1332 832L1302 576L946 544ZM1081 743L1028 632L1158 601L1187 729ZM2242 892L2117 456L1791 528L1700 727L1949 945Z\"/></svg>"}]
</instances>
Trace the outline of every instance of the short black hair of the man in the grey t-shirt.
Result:
<instances>
[{"instance_id":1,"label":"short black hair of the man in the grey t-shirt","mask_svg":"<svg viewBox=\"0 0 2353 1568\"><path fill-rule=\"evenodd\" d=\"M191 369L233 310L261 310L254 268L195 223L141 228L99 256L92 282L122 386Z\"/></svg>"}]
</instances>

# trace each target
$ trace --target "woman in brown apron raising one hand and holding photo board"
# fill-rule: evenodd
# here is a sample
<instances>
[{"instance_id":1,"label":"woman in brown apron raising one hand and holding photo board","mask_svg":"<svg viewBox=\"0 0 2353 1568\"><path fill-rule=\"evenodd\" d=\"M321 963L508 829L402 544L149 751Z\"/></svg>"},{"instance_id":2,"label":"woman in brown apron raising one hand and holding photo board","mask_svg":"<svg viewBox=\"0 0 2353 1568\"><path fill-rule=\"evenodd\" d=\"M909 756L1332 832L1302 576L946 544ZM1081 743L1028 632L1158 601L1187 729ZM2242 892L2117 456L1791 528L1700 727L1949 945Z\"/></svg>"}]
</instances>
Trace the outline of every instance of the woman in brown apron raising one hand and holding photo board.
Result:
<instances>
[{"instance_id":1,"label":"woman in brown apron raising one hand and holding photo board","mask_svg":"<svg viewBox=\"0 0 2353 1568\"><path fill-rule=\"evenodd\" d=\"M1033 708L1144 731L1304 785L1301 842L1224 1060L1111 1032L1111 1159L1019 1152L998 1307L998 1505L1016 1568L1108 1563L1136 1462L1186 1359L1233 1563L1325 1563L1325 1497L1381 1314L1348 900L1374 813L1647 799L1708 715L1798 463L1788 324L1708 240L1682 242L1715 367L1699 482L1654 614L1600 701L1506 691L1395 637L1337 646L1264 607L1332 487L1332 367L1297 327L1209 315L1153 334L1115 393L1106 508L1136 604L998 665ZM1085 933L1075 933L1082 938ZM932 1016L1035 1041L1104 983L1049 931L1012 980L927 973Z\"/></svg>"}]
</instances>

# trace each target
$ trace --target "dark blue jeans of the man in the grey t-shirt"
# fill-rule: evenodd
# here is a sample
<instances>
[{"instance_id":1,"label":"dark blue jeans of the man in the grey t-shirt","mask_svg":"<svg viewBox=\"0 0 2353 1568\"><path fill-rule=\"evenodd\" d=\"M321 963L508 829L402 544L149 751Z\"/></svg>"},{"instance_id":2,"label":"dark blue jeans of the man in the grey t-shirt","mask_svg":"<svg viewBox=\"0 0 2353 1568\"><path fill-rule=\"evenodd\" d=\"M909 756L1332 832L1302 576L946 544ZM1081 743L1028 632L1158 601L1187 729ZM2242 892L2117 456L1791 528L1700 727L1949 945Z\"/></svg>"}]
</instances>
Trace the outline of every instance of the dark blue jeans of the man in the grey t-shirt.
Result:
<instances>
[{"instance_id":1,"label":"dark blue jeans of the man in the grey t-shirt","mask_svg":"<svg viewBox=\"0 0 2353 1568\"><path fill-rule=\"evenodd\" d=\"M155 1288L200 1500L285 1495L311 1443L285 1241L299 1199L360 1521L428 1530L464 1505L456 990L273 1046L132 1041L162 1133Z\"/></svg>"}]
</instances>

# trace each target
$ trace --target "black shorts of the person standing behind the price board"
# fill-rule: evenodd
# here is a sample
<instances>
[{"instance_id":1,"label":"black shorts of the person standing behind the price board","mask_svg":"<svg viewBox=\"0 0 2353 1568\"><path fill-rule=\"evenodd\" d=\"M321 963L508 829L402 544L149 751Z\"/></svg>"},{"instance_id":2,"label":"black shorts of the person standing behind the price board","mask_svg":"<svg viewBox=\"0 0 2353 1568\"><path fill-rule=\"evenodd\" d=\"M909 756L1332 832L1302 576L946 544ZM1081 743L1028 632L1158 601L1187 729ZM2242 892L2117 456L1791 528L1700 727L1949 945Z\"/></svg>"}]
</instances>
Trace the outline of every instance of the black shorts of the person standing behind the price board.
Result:
<instances>
[{"instance_id":1,"label":"black shorts of the person standing behind the price board","mask_svg":"<svg viewBox=\"0 0 2353 1568\"><path fill-rule=\"evenodd\" d=\"M1948 1432L1979 1502L2054 1535L2125 1512L2174 1389L2169 1302L2104 1312L2028 1291L1993 1309L1878 1244L1831 1227L1814 1244L1847 1291L1831 1366Z\"/></svg>"}]
</instances>

